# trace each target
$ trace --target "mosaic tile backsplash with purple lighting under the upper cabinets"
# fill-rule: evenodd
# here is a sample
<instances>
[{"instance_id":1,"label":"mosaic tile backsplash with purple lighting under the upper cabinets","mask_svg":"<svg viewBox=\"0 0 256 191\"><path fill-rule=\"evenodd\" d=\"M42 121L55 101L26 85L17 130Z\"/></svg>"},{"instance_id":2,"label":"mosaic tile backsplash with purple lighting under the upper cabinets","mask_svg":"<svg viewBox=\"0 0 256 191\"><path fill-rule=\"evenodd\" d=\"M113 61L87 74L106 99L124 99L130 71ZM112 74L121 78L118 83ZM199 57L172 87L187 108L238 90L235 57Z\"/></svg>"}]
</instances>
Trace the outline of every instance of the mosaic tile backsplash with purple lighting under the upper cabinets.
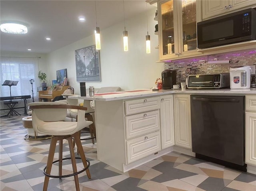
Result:
<instances>
[{"instance_id":1,"label":"mosaic tile backsplash with purple lighting under the upper cabinets","mask_svg":"<svg viewBox=\"0 0 256 191\"><path fill-rule=\"evenodd\" d=\"M208 63L208 61L215 60L229 60L230 62L226 64ZM177 70L177 83L180 83L186 81L188 75L229 73L230 67L238 65L256 66L256 50L237 51L233 53L175 60L173 62L164 63L164 69Z\"/></svg>"}]
</instances>

